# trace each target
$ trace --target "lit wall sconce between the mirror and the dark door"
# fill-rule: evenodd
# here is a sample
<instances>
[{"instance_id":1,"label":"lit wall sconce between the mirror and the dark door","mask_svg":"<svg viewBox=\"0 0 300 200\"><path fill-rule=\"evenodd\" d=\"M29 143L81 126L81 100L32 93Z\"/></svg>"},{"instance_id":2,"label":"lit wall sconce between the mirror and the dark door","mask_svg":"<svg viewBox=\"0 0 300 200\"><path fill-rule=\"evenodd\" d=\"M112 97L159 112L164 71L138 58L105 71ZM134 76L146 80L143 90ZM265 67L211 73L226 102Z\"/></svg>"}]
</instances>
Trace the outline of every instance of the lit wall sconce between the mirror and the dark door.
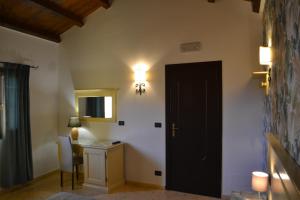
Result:
<instances>
[{"instance_id":1,"label":"lit wall sconce between the mirror and the dark door","mask_svg":"<svg viewBox=\"0 0 300 200\"><path fill-rule=\"evenodd\" d=\"M135 91L136 94L142 95L146 92L146 71L147 65L145 64L136 64L133 67L134 70L134 79L135 79Z\"/></svg>"}]
</instances>

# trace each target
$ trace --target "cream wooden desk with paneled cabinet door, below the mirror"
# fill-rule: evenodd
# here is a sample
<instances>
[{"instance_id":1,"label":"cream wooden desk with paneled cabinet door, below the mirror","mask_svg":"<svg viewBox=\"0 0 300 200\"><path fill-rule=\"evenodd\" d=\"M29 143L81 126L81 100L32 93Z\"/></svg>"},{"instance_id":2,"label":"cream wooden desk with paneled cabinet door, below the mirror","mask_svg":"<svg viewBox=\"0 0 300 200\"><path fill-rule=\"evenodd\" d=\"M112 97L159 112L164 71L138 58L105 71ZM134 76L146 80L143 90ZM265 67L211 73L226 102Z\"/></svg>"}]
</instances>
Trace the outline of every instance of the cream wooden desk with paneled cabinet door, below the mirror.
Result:
<instances>
[{"instance_id":1,"label":"cream wooden desk with paneled cabinet door, below the mirror","mask_svg":"<svg viewBox=\"0 0 300 200\"><path fill-rule=\"evenodd\" d=\"M125 183L123 143L73 142L73 147L83 154L84 186L110 192Z\"/></svg>"}]
</instances>

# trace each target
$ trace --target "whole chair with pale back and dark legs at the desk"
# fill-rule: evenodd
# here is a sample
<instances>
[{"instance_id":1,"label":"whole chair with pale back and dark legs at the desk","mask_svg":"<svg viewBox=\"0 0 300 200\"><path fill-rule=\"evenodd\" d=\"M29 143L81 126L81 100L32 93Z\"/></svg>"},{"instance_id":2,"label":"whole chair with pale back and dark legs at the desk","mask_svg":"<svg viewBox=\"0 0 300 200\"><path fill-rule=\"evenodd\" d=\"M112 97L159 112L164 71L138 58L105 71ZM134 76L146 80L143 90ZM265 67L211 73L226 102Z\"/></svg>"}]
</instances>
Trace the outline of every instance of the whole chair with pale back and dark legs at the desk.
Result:
<instances>
[{"instance_id":1,"label":"whole chair with pale back and dark legs at the desk","mask_svg":"<svg viewBox=\"0 0 300 200\"><path fill-rule=\"evenodd\" d=\"M63 187L63 173L72 173L72 190L74 189L74 168L78 181L78 166L83 164L83 157L73 151L70 137L59 136L59 165L60 165L60 186Z\"/></svg>"}]
</instances>

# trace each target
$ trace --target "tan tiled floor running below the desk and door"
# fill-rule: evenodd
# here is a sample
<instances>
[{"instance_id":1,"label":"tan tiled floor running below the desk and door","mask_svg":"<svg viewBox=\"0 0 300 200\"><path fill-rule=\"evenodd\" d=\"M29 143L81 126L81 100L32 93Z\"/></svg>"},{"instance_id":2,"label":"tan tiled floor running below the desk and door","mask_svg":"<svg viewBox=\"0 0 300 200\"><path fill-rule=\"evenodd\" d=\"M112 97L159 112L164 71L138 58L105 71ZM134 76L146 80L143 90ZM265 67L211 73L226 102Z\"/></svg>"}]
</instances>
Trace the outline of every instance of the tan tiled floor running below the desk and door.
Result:
<instances>
[{"instance_id":1,"label":"tan tiled floor running below the desk and door","mask_svg":"<svg viewBox=\"0 0 300 200\"><path fill-rule=\"evenodd\" d=\"M113 194L103 194L96 189L83 188L82 178L78 184L75 184L75 190L72 191L70 177L68 174L65 175L64 187L61 188L59 173L52 173L23 187L0 192L0 200L45 200L58 192L72 192L94 197L97 200L215 200L199 195L157 190L154 187L133 184L121 186L115 189Z\"/></svg>"}]
</instances>

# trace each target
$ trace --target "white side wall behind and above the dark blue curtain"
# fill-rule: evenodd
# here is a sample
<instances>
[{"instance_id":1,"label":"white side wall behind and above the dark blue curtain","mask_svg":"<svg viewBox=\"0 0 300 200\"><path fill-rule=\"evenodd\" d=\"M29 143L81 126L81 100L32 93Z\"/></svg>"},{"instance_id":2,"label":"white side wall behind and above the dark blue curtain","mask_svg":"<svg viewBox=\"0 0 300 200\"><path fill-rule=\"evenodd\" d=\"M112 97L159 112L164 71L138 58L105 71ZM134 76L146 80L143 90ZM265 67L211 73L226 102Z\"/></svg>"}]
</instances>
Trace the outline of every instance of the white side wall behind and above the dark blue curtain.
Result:
<instances>
[{"instance_id":1,"label":"white side wall behind and above the dark blue curtain","mask_svg":"<svg viewBox=\"0 0 300 200\"><path fill-rule=\"evenodd\" d=\"M39 66L29 82L34 177L56 170L58 45L0 27L0 61Z\"/></svg>"}]
</instances>

